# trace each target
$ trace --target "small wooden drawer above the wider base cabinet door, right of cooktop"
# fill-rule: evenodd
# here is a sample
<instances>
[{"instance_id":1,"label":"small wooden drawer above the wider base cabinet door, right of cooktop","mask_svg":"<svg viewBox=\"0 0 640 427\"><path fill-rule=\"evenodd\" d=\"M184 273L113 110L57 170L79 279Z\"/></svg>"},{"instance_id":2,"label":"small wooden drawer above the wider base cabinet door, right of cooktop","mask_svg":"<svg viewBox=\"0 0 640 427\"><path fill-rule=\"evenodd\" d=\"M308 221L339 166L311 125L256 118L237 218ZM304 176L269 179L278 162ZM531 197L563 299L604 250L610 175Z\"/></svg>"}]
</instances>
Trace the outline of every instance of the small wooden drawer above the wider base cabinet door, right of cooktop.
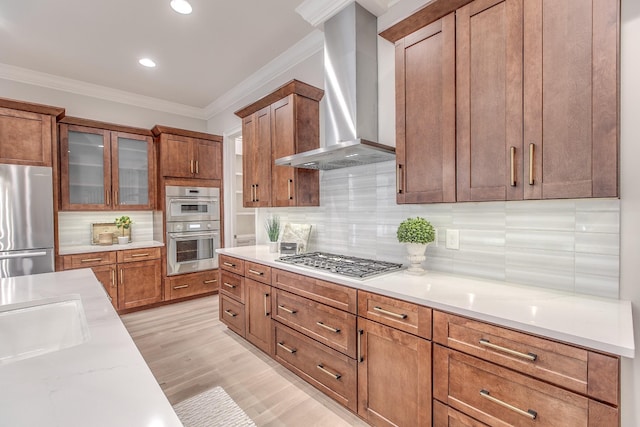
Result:
<instances>
[{"instance_id":1,"label":"small wooden drawer above the wider base cabinet door, right of cooktop","mask_svg":"<svg viewBox=\"0 0 640 427\"><path fill-rule=\"evenodd\" d=\"M431 309L366 291L358 291L358 316L431 339Z\"/></svg>"}]
</instances>

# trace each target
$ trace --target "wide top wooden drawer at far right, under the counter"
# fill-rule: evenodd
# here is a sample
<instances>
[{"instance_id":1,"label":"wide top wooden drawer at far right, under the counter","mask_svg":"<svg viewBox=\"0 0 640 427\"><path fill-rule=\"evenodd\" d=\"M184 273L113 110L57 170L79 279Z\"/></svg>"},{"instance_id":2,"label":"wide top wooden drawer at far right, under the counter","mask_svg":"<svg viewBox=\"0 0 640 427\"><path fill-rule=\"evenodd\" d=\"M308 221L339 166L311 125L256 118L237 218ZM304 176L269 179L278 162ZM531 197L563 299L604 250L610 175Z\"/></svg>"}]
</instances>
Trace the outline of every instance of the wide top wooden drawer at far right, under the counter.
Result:
<instances>
[{"instance_id":1,"label":"wide top wooden drawer at far right, under the counter","mask_svg":"<svg viewBox=\"0 0 640 427\"><path fill-rule=\"evenodd\" d=\"M599 400L619 404L617 357L435 311L433 340Z\"/></svg>"}]
</instances>

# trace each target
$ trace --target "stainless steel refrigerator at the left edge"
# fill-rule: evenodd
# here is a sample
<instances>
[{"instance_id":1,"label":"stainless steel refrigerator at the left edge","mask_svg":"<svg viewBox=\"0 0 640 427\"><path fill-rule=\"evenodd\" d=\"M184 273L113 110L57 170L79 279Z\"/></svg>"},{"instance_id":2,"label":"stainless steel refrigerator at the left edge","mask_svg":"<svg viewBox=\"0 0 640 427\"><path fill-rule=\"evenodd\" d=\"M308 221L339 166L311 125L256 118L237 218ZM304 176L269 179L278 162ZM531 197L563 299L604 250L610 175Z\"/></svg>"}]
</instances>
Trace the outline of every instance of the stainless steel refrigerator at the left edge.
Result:
<instances>
[{"instance_id":1,"label":"stainless steel refrigerator at the left edge","mask_svg":"<svg viewBox=\"0 0 640 427\"><path fill-rule=\"evenodd\" d=\"M0 278L53 270L51 168L0 164Z\"/></svg>"}]
</instances>

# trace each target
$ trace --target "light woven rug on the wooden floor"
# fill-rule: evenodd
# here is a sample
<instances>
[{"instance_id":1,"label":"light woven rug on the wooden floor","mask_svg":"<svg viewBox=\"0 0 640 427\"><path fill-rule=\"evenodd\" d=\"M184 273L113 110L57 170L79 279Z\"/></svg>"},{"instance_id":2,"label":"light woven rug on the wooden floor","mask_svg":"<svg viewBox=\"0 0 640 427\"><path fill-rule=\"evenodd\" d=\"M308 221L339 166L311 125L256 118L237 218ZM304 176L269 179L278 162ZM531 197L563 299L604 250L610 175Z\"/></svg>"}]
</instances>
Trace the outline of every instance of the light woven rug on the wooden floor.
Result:
<instances>
[{"instance_id":1,"label":"light woven rug on the wooden floor","mask_svg":"<svg viewBox=\"0 0 640 427\"><path fill-rule=\"evenodd\" d=\"M214 387L173 405L184 427L249 427L255 423L222 387Z\"/></svg>"}]
</instances>

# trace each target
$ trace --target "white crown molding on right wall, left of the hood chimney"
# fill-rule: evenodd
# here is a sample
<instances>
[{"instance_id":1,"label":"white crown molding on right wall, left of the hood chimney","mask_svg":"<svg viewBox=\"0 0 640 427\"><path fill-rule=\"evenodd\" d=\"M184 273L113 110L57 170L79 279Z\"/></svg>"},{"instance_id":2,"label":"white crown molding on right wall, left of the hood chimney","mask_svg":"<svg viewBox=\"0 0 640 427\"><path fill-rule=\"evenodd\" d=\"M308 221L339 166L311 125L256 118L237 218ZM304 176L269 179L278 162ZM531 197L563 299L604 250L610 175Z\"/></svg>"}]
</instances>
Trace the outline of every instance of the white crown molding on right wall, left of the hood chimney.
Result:
<instances>
[{"instance_id":1,"label":"white crown molding on right wall, left of the hood chimney","mask_svg":"<svg viewBox=\"0 0 640 427\"><path fill-rule=\"evenodd\" d=\"M205 107L205 117L211 119L227 110L238 100L260 89L265 83L270 82L322 49L324 49L324 33L320 30L313 30L291 48Z\"/></svg>"}]
</instances>

